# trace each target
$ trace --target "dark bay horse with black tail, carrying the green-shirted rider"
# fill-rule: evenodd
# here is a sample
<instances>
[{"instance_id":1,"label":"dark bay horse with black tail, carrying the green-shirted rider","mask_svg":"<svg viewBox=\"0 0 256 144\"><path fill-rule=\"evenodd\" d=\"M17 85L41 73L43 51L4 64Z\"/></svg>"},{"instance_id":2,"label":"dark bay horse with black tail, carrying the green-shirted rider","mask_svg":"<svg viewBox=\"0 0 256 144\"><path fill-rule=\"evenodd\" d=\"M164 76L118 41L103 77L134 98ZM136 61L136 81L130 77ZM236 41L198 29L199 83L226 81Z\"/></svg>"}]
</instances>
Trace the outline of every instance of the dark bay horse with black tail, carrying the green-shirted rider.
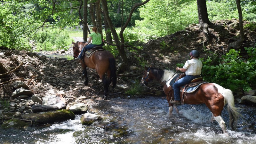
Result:
<instances>
[{"instance_id":1,"label":"dark bay horse with black tail, carrying the green-shirted rider","mask_svg":"<svg viewBox=\"0 0 256 144\"><path fill-rule=\"evenodd\" d=\"M74 58L77 58L83 47L87 42L72 42ZM85 85L88 85L88 74L86 68L95 69L102 80L104 85L104 94L102 98L108 100L108 87L112 81L112 89L116 87L116 60L112 53L102 50L94 52L89 58L84 56L83 62L83 77L85 77ZM107 72L108 78L106 79L105 73Z\"/></svg>"}]
</instances>

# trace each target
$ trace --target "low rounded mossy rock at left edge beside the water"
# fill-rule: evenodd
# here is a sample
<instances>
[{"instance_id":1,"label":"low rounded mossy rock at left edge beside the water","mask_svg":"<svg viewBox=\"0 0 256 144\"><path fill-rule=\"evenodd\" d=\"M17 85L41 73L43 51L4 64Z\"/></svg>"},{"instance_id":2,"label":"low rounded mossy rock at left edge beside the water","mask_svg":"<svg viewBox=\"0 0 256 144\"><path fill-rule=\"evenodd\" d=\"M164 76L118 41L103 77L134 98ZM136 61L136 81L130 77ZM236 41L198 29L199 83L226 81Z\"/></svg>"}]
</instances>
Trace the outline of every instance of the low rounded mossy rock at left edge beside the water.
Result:
<instances>
[{"instance_id":1,"label":"low rounded mossy rock at left edge beside the water","mask_svg":"<svg viewBox=\"0 0 256 144\"><path fill-rule=\"evenodd\" d=\"M2 128L3 129L10 129L10 128L14 128L14 129L23 129L26 128L29 124L18 120L18 119L10 119L8 121L4 121L4 123L2 124Z\"/></svg>"}]
</instances>

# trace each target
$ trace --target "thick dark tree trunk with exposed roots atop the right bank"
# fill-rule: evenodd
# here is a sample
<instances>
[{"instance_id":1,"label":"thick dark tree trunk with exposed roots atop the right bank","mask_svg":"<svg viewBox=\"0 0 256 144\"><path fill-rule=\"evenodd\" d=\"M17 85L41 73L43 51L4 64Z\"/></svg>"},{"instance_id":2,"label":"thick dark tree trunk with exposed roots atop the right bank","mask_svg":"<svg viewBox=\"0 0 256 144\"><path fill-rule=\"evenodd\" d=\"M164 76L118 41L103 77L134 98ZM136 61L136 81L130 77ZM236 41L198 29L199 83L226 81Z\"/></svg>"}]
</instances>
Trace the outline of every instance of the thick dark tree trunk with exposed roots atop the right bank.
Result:
<instances>
[{"instance_id":1,"label":"thick dark tree trunk with exposed roots atop the right bank","mask_svg":"<svg viewBox=\"0 0 256 144\"><path fill-rule=\"evenodd\" d=\"M209 27L213 26L214 24L208 18L206 1L197 0L196 3L197 3L197 11L198 11L199 29L204 32L204 35L206 36L206 40L209 41L209 34L214 35L212 33L212 30Z\"/></svg>"}]
</instances>

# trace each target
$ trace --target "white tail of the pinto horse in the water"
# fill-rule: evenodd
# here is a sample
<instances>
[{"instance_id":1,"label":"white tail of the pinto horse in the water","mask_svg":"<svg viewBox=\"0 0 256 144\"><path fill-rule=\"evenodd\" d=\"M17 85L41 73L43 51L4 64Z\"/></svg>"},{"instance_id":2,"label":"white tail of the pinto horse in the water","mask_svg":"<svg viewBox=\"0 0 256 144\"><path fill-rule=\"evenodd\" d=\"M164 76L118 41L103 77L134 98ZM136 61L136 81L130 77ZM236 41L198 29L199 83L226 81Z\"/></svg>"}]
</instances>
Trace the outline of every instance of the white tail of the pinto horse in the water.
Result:
<instances>
[{"instance_id":1,"label":"white tail of the pinto horse in the water","mask_svg":"<svg viewBox=\"0 0 256 144\"><path fill-rule=\"evenodd\" d=\"M234 96L231 90L223 89L222 95L225 98L225 104L228 103L228 114L229 114L229 127L232 129L236 128L238 117L243 117L239 112L242 108L235 107Z\"/></svg>"}]
</instances>

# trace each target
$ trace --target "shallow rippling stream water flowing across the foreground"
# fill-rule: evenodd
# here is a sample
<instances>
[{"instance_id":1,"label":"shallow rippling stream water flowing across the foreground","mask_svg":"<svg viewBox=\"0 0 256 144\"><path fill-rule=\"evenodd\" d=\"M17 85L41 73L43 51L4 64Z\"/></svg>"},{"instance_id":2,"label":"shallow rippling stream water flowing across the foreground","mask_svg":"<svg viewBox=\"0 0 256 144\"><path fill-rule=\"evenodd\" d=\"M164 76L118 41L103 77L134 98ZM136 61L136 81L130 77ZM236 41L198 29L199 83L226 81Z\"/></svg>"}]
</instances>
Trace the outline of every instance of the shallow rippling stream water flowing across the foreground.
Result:
<instances>
[{"instance_id":1,"label":"shallow rippling stream water flowing across the foreground","mask_svg":"<svg viewBox=\"0 0 256 144\"><path fill-rule=\"evenodd\" d=\"M241 107L243 105L236 105ZM91 105L91 113L107 116L91 126L75 120L33 126L26 130L0 129L0 143L87 144L87 143L194 143L194 144L253 144L256 143L255 107L246 107L237 130L229 130L227 108L222 111L229 137L222 134L217 122L210 122L211 113L204 105L178 106L181 114L169 117L164 98L113 98Z\"/></svg>"}]
</instances>

